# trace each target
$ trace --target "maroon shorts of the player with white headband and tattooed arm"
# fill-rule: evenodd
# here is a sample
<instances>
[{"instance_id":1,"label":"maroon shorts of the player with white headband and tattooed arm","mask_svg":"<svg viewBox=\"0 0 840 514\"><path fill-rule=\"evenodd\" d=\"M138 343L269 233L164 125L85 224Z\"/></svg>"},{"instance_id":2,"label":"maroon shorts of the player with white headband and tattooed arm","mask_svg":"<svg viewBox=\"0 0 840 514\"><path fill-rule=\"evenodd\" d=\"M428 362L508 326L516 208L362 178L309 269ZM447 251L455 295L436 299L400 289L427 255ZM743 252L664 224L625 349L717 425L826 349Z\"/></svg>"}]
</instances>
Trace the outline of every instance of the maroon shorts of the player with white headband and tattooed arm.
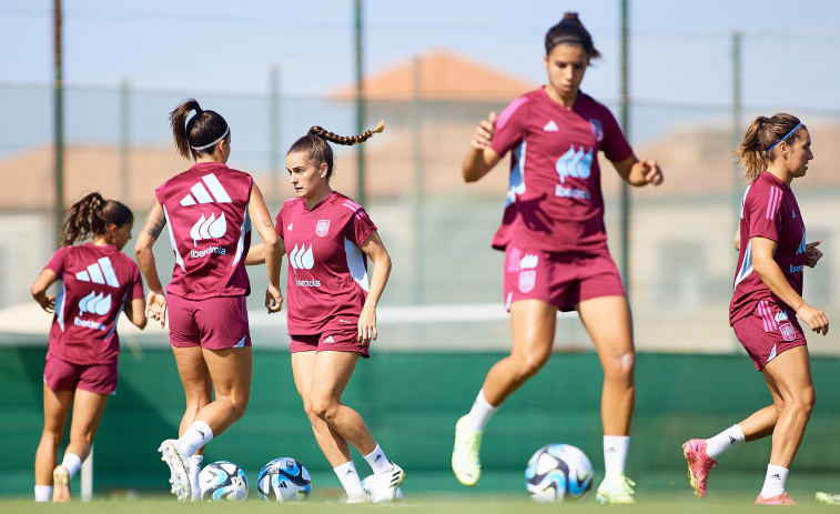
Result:
<instances>
[{"instance_id":1,"label":"maroon shorts of the player with white headband and tattooed arm","mask_svg":"<svg viewBox=\"0 0 840 514\"><path fill-rule=\"evenodd\" d=\"M208 350L251 346L245 296L186 300L166 295L169 342Z\"/></svg>"}]
</instances>

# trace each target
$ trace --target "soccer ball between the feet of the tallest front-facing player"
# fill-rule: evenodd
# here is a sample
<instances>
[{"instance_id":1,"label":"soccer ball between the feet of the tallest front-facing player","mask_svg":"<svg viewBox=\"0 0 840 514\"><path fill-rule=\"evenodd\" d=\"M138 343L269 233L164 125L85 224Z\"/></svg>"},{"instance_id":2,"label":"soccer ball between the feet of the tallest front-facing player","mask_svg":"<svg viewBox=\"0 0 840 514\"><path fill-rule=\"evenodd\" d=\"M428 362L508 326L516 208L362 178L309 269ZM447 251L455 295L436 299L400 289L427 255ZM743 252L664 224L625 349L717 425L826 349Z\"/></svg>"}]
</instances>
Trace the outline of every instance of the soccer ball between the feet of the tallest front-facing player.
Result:
<instances>
[{"instance_id":1,"label":"soccer ball between the feet of the tallest front-facing player","mask_svg":"<svg viewBox=\"0 0 840 514\"><path fill-rule=\"evenodd\" d=\"M537 502L578 500L593 486L593 465L570 444L548 444L528 461L525 485Z\"/></svg>"}]
</instances>

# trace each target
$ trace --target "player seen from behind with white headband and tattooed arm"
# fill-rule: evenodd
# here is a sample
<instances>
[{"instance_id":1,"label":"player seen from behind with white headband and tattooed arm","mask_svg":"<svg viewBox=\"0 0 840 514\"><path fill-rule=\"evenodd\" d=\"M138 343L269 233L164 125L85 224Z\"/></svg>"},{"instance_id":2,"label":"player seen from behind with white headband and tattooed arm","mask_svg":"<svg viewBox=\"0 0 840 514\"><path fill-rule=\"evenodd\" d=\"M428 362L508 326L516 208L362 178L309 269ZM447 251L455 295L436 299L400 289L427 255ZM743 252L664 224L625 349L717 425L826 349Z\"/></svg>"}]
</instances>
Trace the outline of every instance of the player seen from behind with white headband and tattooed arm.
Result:
<instances>
[{"instance_id":1,"label":"player seen from behind with white headband and tattooed arm","mask_svg":"<svg viewBox=\"0 0 840 514\"><path fill-rule=\"evenodd\" d=\"M169 309L170 343L186 409L180 437L164 441L159 451L170 467L172 493L186 501L200 496L202 447L242 417L251 394L245 310L251 285L244 252L252 222L267 246L269 313L277 312L282 301L280 245L260 188L251 175L225 164L231 129L224 118L190 99L170 113L170 120L178 151L195 164L158 188L134 253L149 284L149 318L163 326ZM175 255L168 295L152 253L164 224Z\"/></svg>"}]
</instances>

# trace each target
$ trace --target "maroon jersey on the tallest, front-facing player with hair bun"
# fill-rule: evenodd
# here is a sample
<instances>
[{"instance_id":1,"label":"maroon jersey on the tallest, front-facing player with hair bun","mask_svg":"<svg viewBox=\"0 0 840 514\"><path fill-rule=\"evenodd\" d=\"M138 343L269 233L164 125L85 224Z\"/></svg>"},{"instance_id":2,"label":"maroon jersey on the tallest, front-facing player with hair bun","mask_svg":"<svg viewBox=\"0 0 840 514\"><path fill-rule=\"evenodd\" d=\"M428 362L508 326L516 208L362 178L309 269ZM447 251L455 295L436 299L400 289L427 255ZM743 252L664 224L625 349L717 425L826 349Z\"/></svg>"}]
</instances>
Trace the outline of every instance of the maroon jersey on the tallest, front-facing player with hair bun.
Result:
<instances>
[{"instance_id":1,"label":"maroon jersey on the tallest, front-facing player with hair bun","mask_svg":"<svg viewBox=\"0 0 840 514\"><path fill-rule=\"evenodd\" d=\"M632 154L606 107L581 92L569 110L540 88L502 111L490 147L499 157L514 152L494 248L568 252L606 245L596 155L603 150L610 161L623 161Z\"/></svg>"}]
</instances>

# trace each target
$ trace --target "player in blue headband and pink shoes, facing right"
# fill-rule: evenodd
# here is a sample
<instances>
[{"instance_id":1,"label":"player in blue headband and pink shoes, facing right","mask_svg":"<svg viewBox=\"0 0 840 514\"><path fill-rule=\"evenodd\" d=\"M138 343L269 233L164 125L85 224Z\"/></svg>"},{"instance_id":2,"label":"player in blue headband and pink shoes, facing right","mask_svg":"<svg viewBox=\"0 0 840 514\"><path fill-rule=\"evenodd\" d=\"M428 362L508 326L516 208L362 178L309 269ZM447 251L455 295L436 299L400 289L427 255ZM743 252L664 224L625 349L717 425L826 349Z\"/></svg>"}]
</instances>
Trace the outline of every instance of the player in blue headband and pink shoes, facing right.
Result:
<instances>
[{"instance_id":1,"label":"player in blue headband and pink shoes, facing right","mask_svg":"<svg viewBox=\"0 0 840 514\"><path fill-rule=\"evenodd\" d=\"M822 252L817 249L819 241L806 243L804 221L790 189L813 159L811 137L790 114L758 117L736 154L750 185L736 233L739 254L729 323L765 375L773 403L711 439L687 441L682 452L695 494L705 498L718 455L772 434L770 463L756 504L792 505L785 482L816 401L797 315L811 331L828 333L826 314L802 300L802 268L813 268Z\"/></svg>"}]
</instances>

